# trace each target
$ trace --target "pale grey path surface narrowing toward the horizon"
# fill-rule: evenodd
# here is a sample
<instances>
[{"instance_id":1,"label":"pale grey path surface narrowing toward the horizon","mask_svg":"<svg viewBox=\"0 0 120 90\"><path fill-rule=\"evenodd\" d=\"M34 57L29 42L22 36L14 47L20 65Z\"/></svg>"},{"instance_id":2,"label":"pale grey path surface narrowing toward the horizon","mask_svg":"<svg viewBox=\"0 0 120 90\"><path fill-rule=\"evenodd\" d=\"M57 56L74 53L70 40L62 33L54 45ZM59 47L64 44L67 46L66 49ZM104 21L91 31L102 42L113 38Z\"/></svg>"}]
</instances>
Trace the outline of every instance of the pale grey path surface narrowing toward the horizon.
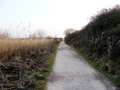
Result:
<instances>
[{"instance_id":1,"label":"pale grey path surface narrowing toward the horizon","mask_svg":"<svg viewBox=\"0 0 120 90\"><path fill-rule=\"evenodd\" d=\"M61 42L47 90L115 90L115 86Z\"/></svg>"}]
</instances>

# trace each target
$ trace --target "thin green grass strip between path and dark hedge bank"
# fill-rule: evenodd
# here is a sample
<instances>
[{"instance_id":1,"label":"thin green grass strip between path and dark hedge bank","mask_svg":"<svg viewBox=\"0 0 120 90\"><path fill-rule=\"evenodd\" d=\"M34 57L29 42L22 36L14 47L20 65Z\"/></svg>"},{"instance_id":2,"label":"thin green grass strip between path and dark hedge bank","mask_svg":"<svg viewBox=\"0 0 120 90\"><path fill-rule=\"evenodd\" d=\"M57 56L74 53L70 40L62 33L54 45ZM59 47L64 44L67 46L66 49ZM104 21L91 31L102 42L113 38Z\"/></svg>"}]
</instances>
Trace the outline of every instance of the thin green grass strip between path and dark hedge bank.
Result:
<instances>
[{"instance_id":1,"label":"thin green grass strip between path and dark hedge bank","mask_svg":"<svg viewBox=\"0 0 120 90\"><path fill-rule=\"evenodd\" d=\"M70 46L74 51L76 51L78 54L80 54L88 63L90 63L94 68L96 68L99 72L104 74L115 86L120 88L120 77L116 77L114 74L110 74L108 72L108 69L105 66L102 66L100 62L94 62L94 60L90 60L84 52L79 51L78 49L74 48L73 46L67 44Z\"/></svg>"}]
</instances>

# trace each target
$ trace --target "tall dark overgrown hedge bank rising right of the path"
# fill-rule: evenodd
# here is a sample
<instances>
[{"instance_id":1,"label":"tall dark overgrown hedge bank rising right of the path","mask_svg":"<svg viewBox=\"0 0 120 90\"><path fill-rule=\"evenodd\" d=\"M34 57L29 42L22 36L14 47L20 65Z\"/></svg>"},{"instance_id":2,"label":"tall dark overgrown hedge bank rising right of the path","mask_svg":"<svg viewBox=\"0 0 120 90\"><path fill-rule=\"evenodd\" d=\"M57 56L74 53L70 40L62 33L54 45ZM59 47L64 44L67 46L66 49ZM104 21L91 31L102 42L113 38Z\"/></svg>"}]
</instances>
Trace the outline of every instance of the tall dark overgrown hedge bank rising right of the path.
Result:
<instances>
[{"instance_id":1,"label":"tall dark overgrown hedge bank rising right of the path","mask_svg":"<svg viewBox=\"0 0 120 90\"><path fill-rule=\"evenodd\" d=\"M67 34L65 42L82 51L106 71L120 87L120 7L103 9L80 31Z\"/></svg>"}]
</instances>

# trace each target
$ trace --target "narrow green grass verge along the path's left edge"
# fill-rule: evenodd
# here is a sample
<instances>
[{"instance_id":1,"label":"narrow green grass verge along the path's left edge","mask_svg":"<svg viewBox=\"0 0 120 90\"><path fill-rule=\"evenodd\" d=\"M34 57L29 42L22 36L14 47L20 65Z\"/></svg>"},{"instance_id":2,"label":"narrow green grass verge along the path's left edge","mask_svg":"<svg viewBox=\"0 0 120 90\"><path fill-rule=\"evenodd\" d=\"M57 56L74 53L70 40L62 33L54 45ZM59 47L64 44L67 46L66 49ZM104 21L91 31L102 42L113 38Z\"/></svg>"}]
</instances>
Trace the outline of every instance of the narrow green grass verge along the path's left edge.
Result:
<instances>
[{"instance_id":1,"label":"narrow green grass verge along the path's left edge","mask_svg":"<svg viewBox=\"0 0 120 90\"><path fill-rule=\"evenodd\" d=\"M37 84L34 90L46 90L47 77L52 71L58 47L59 44L55 46L55 51L51 53L50 58L44 63L45 65L42 67L44 70L42 72L38 72L38 76L36 77Z\"/></svg>"}]
</instances>

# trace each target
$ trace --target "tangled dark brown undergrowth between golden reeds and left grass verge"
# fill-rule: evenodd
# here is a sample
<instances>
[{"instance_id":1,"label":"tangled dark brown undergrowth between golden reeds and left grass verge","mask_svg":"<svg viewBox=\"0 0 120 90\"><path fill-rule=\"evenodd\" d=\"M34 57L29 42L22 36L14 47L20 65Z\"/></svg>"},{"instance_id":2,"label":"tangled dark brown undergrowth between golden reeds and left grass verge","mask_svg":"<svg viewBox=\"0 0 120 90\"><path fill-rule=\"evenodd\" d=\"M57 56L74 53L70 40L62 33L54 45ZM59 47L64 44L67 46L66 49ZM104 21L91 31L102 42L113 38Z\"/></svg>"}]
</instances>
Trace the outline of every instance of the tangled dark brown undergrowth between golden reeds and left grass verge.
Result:
<instances>
[{"instance_id":1,"label":"tangled dark brown undergrowth between golden reeds and left grass verge","mask_svg":"<svg viewBox=\"0 0 120 90\"><path fill-rule=\"evenodd\" d=\"M33 44L33 40L29 44L21 44L22 47L4 51L6 54L3 54L0 60L0 89L32 90L35 88L36 78L45 78L41 74L48 72L45 67L49 64L45 62L49 60L51 53L55 51L55 46L61 40L55 38L44 44Z\"/></svg>"}]
</instances>

